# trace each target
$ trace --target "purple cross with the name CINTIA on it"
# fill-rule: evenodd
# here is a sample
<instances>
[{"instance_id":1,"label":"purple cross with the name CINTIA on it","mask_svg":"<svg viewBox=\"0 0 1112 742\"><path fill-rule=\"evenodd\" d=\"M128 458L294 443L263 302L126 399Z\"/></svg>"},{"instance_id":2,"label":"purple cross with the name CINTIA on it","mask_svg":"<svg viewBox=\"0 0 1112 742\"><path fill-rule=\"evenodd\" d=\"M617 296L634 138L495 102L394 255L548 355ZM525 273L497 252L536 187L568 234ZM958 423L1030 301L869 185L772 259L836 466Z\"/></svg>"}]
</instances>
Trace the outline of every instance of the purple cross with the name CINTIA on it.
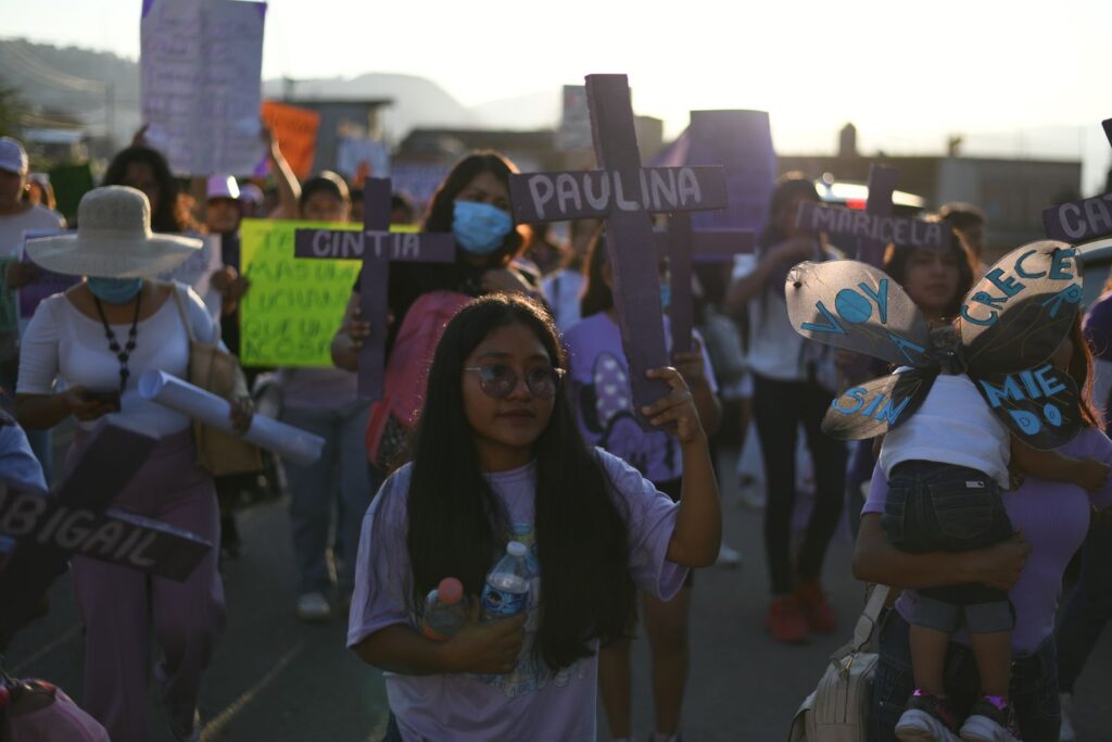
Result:
<instances>
[{"instance_id":1,"label":"purple cross with the name CINTIA on it","mask_svg":"<svg viewBox=\"0 0 1112 742\"><path fill-rule=\"evenodd\" d=\"M363 231L298 229L294 255L299 258L363 258L359 309L370 323L370 337L359 350L359 397L383 398L386 367L387 301L390 263L451 263L456 238L448 233L390 231L389 178L367 178L363 189Z\"/></svg>"}]
</instances>

